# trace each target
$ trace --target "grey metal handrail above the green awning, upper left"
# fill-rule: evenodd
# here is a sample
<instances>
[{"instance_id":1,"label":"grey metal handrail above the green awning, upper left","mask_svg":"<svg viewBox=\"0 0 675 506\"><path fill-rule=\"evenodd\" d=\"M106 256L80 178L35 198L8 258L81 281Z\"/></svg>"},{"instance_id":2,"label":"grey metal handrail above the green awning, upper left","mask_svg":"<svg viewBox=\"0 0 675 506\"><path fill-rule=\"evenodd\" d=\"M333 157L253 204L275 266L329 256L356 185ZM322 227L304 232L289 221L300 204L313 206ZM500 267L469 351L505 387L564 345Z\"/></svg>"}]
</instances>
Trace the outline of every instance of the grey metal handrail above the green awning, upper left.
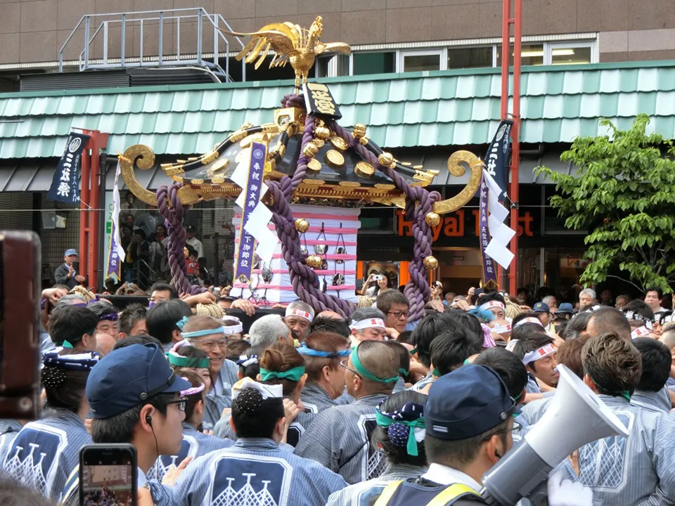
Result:
<instances>
[{"instance_id":1,"label":"grey metal handrail above the green awning, upper left","mask_svg":"<svg viewBox=\"0 0 675 506\"><path fill-rule=\"evenodd\" d=\"M118 17L118 19L115 19L115 17ZM96 30L94 30L94 34L91 34L91 28L92 28L92 21L96 22L96 20L99 20L101 18L106 18L105 20L101 21L100 24L96 27ZM113 18L113 19L110 19ZM197 32L197 53L196 53L196 58L195 59L188 59L188 60L182 60L180 56L180 24L181 20L194 20L196 18L197 23L198 23L198 32ZM203 58L203 30L204 30L204 22L205 18L207 20L207 25L210 23L211 27L213 28L213 63L207 62ZM175 22L176 26L176 58L173 58L173 55L171 55L172 58L167 58L165 60L164 58L164 51L163 51L163 30L165 26L165 21L169 20L170 22ZM144 61L143 60L143 24L148 21L159 21L159 30L158 30L158 56L156 57L156 64L155 63L155 56L152 57L151 60ZM120 63L115 64L115 63L109 63L108 62L108 27L110 24L117 24L119 23L122 27L121 30L121 37L120 37ZM75 32L77 30L80 30L82 28L82 25L84 24L84 48L82 51L79 53L78 57L78 66L80 71L84 70L89 70L90 68L120 68L120 67L129 67L132 64L128 63L125 61L126 59L126 51L125 51L125 44L126 44L126 30L127 30L127 25L135 26L139 25L141 27L140 30L140 44L139 44L139 53L140 53L140 58L138 58L138 62L134 62L134 66L156 66L156 67L176 67L176 66L191 66L191 65L196 65L198 67L203 67L203 68L212 68L214 72L212 74L215 76L216 74L224 75L228 81L231 81L230 78L230 73L229 73L229 46L230 46L230 41L225 37L225 34L221 31L220 27L224 27L230 32L232 31L231 26L229 25L229 22L223 18L223 16L219 13L214 13L214 14L209 14L203 7L197 7L197 8L176 8L176 9L167 9L167 10L161 10L161 11L136 11L136 12L122 12L122 13L101 13L101 14L87 14L83 15L82 18L80 18L79 22L77 22L77 25L75 25L75 28L70 32L68 35L68 38L65 40L63 43L63 46L60 47L58 51L58 71L63 72L63 53L65 51L65 48L68 46L70 41L72 40L73 35L75 35ZM89 51L91 48L91 44L94 42L98 34L101 33L101 30L103 30L103 63L91 63L91 58L89 57ZM240 45L241 48L245 46L243 41L237 37L233 36L234 39L236 39L237 43ZM224 55L226 56L225 60L225 69L223 69L219 63L219 58L221 51L219 51L219 44L221 42L224 42L226 46L226 50L224 51ZM131 57L134 60L137 59L136 56ZM94 59L99 60L98 58ZM150 63L150 65L148 65ZM246 66L245 62L242 61L242 79L243 81L246 80Z\"/></svg>"}]
</instances>

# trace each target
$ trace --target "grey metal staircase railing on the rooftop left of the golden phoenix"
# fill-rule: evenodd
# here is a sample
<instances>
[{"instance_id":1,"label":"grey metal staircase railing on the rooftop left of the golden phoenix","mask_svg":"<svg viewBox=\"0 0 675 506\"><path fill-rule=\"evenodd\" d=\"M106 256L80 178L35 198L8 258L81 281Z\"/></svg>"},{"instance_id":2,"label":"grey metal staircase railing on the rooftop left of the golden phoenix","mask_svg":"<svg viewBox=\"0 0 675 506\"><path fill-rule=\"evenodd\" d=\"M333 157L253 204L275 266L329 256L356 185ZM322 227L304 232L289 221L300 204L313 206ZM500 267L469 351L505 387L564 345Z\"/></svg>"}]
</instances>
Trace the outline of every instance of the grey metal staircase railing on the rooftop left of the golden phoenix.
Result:
<instances>
[{"instance_id":1,"label":"grey metal staircase railing on the rooftop left of the golden phoenix","mask_svg":"<svg viewBox=\"0 0 675 506\"><path fill-rule=\"evenodd\" d=\"M189 52L181 53L181 22L196 22L197 34L193 47ZM158 24L157 54L143 55L143 37L145 41L154 39L144 34L143 27L148 23ZM120 56L111 57L110 44L111 28L120 27ZM165 51L164 30L172 26L175 31L176 51ZM95 28L94 28L95 27ZM139 28L139 51L129 51L127 48L127 32ZM218 81L231 82L230 77L230 41L221 32L221 27L232 31L229 23L220 14L210 14L202 7L177 8L165 11L139 11L110 14L87 14L82 16L75 28L70 32L68 39L58 51L58 71L63 72L63 55L69 45L76 44L79 37L75 37L78 30L84 31L84 44L79 52L77 63L79 70L109 70L129 67L197 67L202 68L216 77ZM93 33L92 33L93 30ZM204 39L208 32L213 32L212 48L210 53L205 52ZM239 37L232 36L240 48L244 47ZM94 55L94 44L100 42L101 57ZM207 42L208 44L208 42ZM221 51L224 44L224 51ZM98 47L98 46L96 46ZM78 46L79 48L79 46ZM238 51L238 49L237 49ZM131 53L131 54L129 54ZM221 65L224 56L225 66ZM246 80L245 63L241 62L242 80Z\"/></svg>"}]
</instances>

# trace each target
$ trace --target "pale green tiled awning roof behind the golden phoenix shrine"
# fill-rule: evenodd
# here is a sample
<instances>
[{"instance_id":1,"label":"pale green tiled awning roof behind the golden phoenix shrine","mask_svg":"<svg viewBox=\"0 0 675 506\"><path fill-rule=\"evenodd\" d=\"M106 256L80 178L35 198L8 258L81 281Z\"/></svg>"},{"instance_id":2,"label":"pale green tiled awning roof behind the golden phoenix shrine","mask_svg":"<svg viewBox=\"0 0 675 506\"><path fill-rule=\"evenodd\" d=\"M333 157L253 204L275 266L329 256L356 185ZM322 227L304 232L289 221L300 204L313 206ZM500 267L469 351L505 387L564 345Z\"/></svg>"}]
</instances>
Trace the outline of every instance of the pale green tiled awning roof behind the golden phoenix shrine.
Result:
<instances>
[{"instance_id":1,"label":"pale green tiled awning roof behind the golden phoenix shrine","mask_svg":"<svg viewBox=\"0 0 675 506\"><path fill-rule=\"evenodd\" d=\"M340 104L340 124L368 125L387 148L487 144L499 123L498 69L320 79ZM52 157L71 126L108 132L108 153L147 144L158 154L210 150L244 122L273 120L290 81L0 94L0 158ZM650 115L675 138L675 61L525 67L524 143L570 143Z\"/></svg>"}]
</instances>

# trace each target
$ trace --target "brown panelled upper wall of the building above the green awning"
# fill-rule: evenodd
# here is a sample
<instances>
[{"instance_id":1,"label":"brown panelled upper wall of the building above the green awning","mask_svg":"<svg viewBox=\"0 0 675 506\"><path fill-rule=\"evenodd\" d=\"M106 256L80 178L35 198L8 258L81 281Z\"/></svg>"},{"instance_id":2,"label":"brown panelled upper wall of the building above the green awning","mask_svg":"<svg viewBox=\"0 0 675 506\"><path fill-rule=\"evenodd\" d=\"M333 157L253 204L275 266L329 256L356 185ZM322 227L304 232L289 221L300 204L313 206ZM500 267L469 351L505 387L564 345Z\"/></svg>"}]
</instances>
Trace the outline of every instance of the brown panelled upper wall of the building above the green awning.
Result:
<instances>
[{"instance_id":1,"label":"brown panelled upper wall of the building above the green awning","mask_svg":"<svg viewBox=\"0 0 675 506\"><path fill-rule=\"evenodd\" d=\"M600 61L675 58L672 0L523 0L523 34L600 33ZM493 0L0 0L0 64L56 61L80 16L201 6L229 20L234 30L253 31L269 22L309 26L323 15L324 41L349 44L473 39L501 35L501 1ZM155 40L157 23L144 27ZM196 23L181 24L181 53L195 47ZM79 40L84 34L77 34ZM164 30L165 54L176 51L176 27ZM203 40L210 47L209 38ZM120 44L111 28L110 56ZM139 29L126 37L127 51L139 52ZM66 58L77 58L82 44ZM94 53L101 52L101 44ZM127 53L128 55L129 53Z\"/></svg>"}]
</instances>

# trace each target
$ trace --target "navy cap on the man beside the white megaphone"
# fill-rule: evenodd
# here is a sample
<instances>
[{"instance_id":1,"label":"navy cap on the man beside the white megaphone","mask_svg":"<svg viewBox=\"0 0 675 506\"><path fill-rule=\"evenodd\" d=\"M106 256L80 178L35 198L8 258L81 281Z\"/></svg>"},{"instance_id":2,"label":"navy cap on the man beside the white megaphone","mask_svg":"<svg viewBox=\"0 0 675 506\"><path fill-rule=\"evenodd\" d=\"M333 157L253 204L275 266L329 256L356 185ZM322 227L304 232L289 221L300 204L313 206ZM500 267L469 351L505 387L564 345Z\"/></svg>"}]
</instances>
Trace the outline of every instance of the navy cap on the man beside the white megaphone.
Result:
<instances>
[{"instance_id":1,"label":"navy cap on the man beside the white megaphone","mask_svg":"<svg viewBox=\"0 0 675 506\"><path fill-rule=\"evenodd\" d=\"M439 439L470 439L508 420L515 405L494 370L463 365L432 383L424 405L425 429Z\"/></svg>"}]
</instances>

